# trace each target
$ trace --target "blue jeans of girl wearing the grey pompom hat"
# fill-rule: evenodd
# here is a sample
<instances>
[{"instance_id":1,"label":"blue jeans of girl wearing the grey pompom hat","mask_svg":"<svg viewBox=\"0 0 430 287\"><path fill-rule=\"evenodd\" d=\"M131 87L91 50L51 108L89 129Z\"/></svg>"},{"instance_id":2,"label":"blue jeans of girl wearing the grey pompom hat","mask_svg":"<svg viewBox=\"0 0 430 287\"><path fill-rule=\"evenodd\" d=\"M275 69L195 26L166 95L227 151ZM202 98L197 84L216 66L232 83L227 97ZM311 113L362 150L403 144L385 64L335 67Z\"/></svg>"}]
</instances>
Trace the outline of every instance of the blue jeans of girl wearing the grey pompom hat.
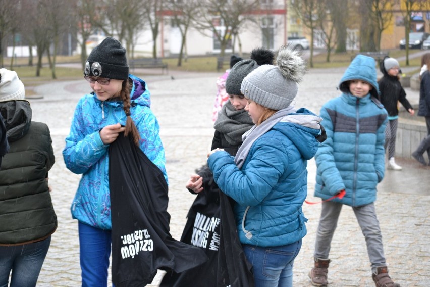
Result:
<instances>
[{"instance_id":1,"label":"blue jeans of girl wearing the grey pompom hat","mask_svg":"<svg viewBox=\"0 0 430 287\"><path fill-rule=\"evenodd\" d=\"M243 251L252 264L255 287L292 287L293 264L302 240L275 247L244 245Z\"/></svg>"}]
</instances>

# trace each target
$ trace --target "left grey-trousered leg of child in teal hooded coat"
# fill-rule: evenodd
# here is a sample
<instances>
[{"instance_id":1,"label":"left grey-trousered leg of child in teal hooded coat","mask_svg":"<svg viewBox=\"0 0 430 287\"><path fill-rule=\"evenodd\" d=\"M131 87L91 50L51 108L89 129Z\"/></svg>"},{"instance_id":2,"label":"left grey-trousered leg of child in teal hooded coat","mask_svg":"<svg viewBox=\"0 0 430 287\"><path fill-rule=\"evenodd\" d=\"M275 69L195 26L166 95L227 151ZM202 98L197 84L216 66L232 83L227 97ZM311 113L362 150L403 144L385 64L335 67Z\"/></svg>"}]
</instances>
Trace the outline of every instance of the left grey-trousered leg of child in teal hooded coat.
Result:
<instances>
[{"instance_id":1,"label":"left grey-trousered leg of child in teal hooded coat","mask_svg":"<svg viewBox=\"0 0 430 287\"><path fill-rule=\"evenodd\" d=\"M321 218L319 219L318 229L316 231L315 258L329 258L330 244L338 225L341 210L341 203L327 201L321 204Z\"/></svg>"}]
</instances>

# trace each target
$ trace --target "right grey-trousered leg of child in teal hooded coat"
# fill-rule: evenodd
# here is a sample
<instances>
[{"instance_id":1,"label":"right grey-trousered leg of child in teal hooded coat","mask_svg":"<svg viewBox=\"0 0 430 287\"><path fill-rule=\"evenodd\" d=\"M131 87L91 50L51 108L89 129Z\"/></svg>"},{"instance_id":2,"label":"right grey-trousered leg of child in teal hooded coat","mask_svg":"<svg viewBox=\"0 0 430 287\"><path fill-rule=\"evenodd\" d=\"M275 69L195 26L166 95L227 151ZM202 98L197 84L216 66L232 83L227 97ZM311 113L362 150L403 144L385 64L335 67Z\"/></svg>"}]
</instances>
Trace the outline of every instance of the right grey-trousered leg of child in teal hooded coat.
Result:
<instances>
[{"instance_id":1,"label":"right grey-trousered leg of child in teal hooded coat","mask_svg":"<svg viewBox=\"0 0 430 287\"><path fill-rule=\"evenodd\" d=\"M352 208L366 240L371 268L385 266L384 246L379 221L373 203Z\"/></svg>"}]
</instances>

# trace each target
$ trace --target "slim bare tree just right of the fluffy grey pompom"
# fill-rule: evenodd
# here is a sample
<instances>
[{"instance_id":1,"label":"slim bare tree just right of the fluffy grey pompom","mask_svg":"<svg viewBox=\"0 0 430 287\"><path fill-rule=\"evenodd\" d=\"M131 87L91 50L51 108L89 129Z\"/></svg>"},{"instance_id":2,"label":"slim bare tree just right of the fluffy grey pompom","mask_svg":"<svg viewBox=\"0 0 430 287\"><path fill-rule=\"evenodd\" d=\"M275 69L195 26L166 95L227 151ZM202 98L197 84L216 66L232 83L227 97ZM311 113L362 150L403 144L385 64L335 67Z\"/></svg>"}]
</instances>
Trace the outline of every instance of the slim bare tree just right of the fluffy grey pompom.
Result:
<instances>
[{"instance_id":1,"label":"slim bare tree just right of the fluffy grey pompom","mask_svg":"<svg viewBox=\"0 0 430 287\"><path fill-rule=\"evenodd\" d=\"M310 57L309 64L313 68L313 34L315 29L319 27L320 15L318 12L325 9L324 2L320 0L301 0L292 3L297 16L302 21L303 25L310 30Z\"/></svg>"}]
</instances>

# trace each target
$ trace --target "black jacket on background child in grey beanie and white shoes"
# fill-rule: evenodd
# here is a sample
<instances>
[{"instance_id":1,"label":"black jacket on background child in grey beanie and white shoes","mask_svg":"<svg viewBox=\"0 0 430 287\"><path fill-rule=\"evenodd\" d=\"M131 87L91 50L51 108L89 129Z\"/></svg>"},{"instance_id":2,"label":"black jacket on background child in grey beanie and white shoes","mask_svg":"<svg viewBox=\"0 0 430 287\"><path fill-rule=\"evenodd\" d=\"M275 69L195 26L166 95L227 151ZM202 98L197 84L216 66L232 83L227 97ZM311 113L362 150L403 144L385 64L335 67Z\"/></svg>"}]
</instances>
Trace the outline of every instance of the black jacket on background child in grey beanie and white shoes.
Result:
<instances>
[{"instance_id":1,"label":"black jacket on background child in grey beanie and white shoes","mask_svg":"<svg viewBox=\"0 0 430 287\"><path fill-rule=\"evenodd\" d=\"M406 99L406 92L397 76L393 77L385 72L378 84L381 92L379 100L387 110L389 117L398 117L399 109L397 108L397 102L400 102L406 110L413 109L412 105Z\"/></svg>"}]
</instances>

